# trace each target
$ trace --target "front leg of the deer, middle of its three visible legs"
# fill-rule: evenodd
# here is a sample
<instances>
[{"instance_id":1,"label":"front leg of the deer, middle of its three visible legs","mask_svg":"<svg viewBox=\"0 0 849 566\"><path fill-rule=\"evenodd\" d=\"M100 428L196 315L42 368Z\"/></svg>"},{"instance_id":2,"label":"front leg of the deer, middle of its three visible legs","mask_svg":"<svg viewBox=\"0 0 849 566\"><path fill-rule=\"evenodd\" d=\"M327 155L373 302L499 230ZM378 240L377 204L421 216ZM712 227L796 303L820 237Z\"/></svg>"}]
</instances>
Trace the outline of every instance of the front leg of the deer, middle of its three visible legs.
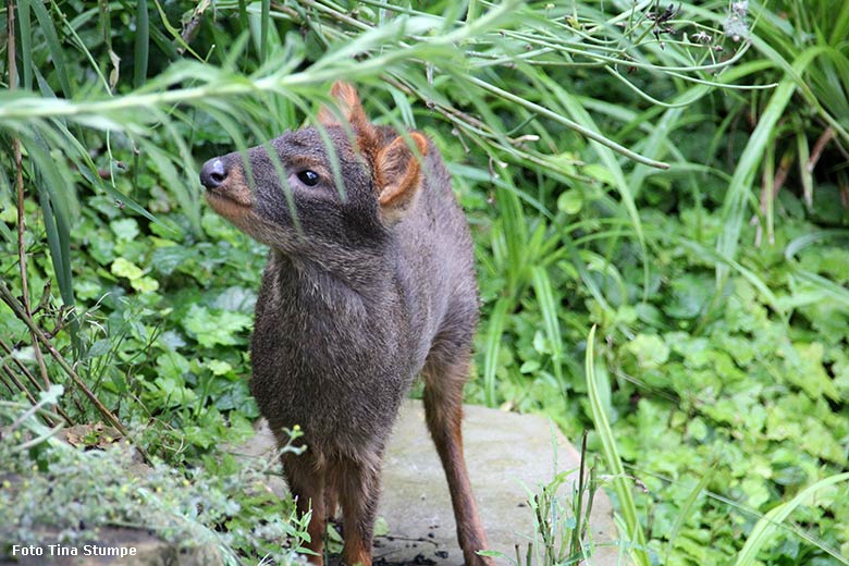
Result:
<instances>
[{"instance_id":1,"label":"front leg of the deer, middle of its three visible legs","mask_svg":"<svg viewBox=\"0 0 849 566\"><path fill-rule=\"evenodd\" d=\"M374 518L380 496L381 453L365 451L356 458L341 456L331 465L331 484L342 505L346 566L371 566Z\"/></svg>"}]
</instances>

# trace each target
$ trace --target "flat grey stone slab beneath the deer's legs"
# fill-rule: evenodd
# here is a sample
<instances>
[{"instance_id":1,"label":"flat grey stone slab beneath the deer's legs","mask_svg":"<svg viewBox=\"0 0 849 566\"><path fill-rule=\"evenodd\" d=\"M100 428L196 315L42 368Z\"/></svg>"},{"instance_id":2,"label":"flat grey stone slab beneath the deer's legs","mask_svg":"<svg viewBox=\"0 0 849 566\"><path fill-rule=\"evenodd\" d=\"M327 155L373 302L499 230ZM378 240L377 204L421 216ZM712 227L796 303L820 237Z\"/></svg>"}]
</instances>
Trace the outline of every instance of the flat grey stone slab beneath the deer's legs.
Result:
<instances>
[{"instance_id":1,"label":"flat grey stone slab beneath the deer's legs","mask_svg":"<svg viewBox=\"0 0 849 566\"><path fill-rule=\"evenodd\" d=\"M558 491L562 504L567 506L580 455L546 419L533 415L466 406L463 434L489 550L515 559L518 544L524 562L528 542L533 538L527 490L538 493L541 485L554 478L556 459L557 472L573 471ZM272 450L273 436L262 427L238 452L261 455ZM272 488L281 491L283 483L276 481ZM378 516L385 521L389 532L376 537L376 564L381 558L392 564L463 564L448 488L419 401L405 402L395 424L384 459ZM614 542L618 536L613 509L601 490L594 494L590 531L593 552L589 563L606 566L627 562ZM496 562L507 563L504 558Z\"/></svg>"}]
</instances>

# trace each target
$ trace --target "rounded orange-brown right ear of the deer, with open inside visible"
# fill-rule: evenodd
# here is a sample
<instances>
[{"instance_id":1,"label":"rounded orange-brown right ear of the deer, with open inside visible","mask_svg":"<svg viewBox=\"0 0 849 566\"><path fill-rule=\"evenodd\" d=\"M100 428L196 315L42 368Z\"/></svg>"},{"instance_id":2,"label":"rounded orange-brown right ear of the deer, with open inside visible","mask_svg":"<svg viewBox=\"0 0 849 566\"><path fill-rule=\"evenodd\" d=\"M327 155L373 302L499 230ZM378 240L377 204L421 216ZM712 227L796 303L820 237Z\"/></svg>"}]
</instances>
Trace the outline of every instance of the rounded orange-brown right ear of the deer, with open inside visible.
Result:
<instances>
[{"instance_id":1,"label":"rounded orange-brown right ear of the deer, with open inside visible","mask_svg":"<svg viewBox=\"0 0 849 566\"><path fill-rule=\"evenodd\" d=\"M410 132L409 139L422 158L428 155L428 139L423 135ZM421 186L421 163L408 144L398 136L382 148L374 160L378 202L383 218L390 223L399 220L413 206Z\"/></svg>"}]
</instances>

